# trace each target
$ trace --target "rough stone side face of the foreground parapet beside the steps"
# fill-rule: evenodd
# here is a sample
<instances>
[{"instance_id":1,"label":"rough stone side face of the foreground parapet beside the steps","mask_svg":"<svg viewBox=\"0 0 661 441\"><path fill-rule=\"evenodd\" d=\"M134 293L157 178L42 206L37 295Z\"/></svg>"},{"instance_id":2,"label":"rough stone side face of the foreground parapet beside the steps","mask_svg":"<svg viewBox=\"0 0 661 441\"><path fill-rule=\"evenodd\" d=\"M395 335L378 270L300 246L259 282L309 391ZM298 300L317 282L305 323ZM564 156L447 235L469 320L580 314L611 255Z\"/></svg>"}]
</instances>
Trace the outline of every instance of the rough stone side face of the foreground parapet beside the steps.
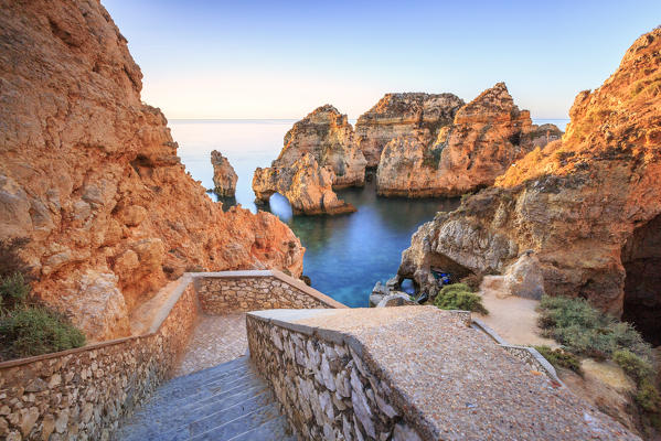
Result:
<instances>
[{"instance_id":1,"label":"rough stone side face of the foreground parapet beside the steps","mask_svg":"<svg viewBox=\"0 0 661 441\"><path fill-rule=\"evenodd\" d=\"M388 385L341 337L323 340L250 314L247 332L250 358L301 439L422 439L391 401Z\"/></svg>"}]
</instances>

